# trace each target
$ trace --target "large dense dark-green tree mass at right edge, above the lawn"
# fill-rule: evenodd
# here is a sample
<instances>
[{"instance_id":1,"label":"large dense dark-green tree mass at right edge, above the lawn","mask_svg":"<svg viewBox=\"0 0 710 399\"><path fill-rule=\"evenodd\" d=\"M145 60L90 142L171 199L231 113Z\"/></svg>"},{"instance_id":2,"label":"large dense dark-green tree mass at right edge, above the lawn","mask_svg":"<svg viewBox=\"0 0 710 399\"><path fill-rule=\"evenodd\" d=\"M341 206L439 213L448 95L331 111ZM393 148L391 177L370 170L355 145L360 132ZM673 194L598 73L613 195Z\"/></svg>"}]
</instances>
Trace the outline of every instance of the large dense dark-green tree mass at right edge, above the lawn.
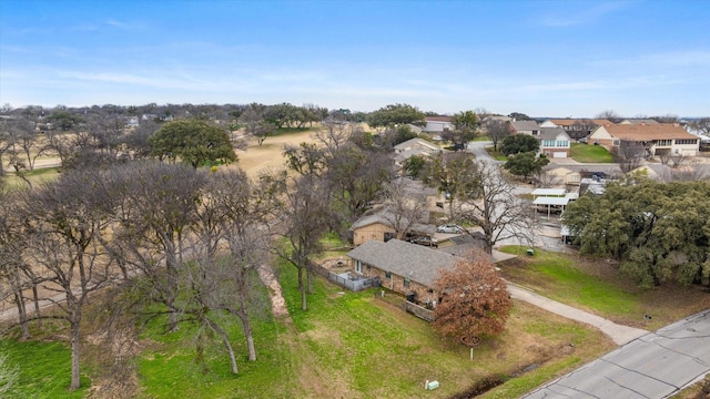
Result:
<instances>
[{"instance_id":1,"label":"large dense dark-green tree mass at right edge, above the lawn","mask_svg":"<svg viewBox=\"0 0 710 399\"><path fill-rule=\"evenodd\" d=\"M649 287L674 279L708 284L710 183L611 184L562 214L581 254L613 256L621 272Z\"/></svg>"}]
</instances>

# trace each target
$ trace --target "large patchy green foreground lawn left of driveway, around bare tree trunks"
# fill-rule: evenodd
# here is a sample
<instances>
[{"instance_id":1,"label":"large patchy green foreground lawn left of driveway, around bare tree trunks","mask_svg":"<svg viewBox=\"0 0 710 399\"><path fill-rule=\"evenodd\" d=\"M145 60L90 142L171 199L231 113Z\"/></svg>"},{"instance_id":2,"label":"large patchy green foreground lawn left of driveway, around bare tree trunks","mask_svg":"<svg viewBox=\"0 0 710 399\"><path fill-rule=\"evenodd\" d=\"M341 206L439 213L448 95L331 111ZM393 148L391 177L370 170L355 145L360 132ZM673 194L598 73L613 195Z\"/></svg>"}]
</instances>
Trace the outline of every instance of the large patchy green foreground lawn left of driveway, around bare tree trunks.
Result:
<instances>
[{"instance_id":1,"label":"large patchy green foreground lawn left of driveway, around bare tree trunks","mask_svg":"<svg viewBox=\"0 0 710 399\"><path fill-rule=\"evenodd\" d=\"M204 341L203 369L195 360L194 327L182 325L178 332L163 334L165 320L155 319L139 342L140 388L131 397L448 398L496 380L500 385L484 398L510 398L613 348L596 329L516 301L506 332L476 347L471 361L469 348L442 339L427 323L375 298L379 290L343 291L316 278L308 310L303 311L295 268L280 267L278 278L291 317L272 318L264 303L266 290L262 290L253 320L257 361L246 360L239 323L224 324L237 355L240 374L235 376L217 339ZM68 347L47 340L57 334L30 342L6 340L2 349L26 374L20 386L31 383L29 397L87 397L93 388L65 389ZM92 366L97 362L89 359L91 352L85 351L83 370L100 385L102 372L109 371ZM27 367L27 358L43 360L40 367ZM514 378L531 365L531 371ZM442 387L425 391L427 379L438 380ZM26 392L10 397L28 397Z\"/></svg>"}]
</instances>

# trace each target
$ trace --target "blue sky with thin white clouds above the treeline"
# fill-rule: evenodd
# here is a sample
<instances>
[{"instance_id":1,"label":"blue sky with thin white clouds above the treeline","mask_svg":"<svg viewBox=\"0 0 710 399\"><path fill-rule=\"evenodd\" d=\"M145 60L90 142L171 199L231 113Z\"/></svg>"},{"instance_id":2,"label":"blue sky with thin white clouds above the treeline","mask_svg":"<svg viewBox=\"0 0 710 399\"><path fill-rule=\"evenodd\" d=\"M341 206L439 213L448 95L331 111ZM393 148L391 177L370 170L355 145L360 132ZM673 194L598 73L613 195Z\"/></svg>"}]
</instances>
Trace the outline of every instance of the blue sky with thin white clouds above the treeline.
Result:
<instances>
[{"instance_id":1,"label":"blue sky with thin white clouds above the treeline","mask_svg":"<svg viewBox=\"0 0 710 399\"><path fill-rule=\"evenodd\" d=\"M0 1L0 103L710 114L710 1Z\"/></svg>"}]
</instances>

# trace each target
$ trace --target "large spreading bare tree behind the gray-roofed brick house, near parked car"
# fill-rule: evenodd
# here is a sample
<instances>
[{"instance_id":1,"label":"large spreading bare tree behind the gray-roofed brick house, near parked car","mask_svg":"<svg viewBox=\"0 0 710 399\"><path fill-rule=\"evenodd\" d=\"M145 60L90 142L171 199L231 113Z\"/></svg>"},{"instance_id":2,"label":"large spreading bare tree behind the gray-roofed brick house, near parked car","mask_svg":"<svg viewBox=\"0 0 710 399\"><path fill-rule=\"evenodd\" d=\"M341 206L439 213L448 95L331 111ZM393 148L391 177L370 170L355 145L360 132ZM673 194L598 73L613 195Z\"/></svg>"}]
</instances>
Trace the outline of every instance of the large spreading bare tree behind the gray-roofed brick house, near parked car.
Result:
<instances>
[{"instance_id":1,"label":"large spreading bare tree behind the gray-roofed brick house, near parked car","mask_svg":"<svg viewBox=\"0 0 710 399\"><path fill-rule=\"evenodd\" d=\"M496 164L477 162L470 174L475 178L454 193L455 219L483 228L488 254L497 242L509 238L530 245L535 226L529 202L514 195Z\"/></svg>"}]
</instances>

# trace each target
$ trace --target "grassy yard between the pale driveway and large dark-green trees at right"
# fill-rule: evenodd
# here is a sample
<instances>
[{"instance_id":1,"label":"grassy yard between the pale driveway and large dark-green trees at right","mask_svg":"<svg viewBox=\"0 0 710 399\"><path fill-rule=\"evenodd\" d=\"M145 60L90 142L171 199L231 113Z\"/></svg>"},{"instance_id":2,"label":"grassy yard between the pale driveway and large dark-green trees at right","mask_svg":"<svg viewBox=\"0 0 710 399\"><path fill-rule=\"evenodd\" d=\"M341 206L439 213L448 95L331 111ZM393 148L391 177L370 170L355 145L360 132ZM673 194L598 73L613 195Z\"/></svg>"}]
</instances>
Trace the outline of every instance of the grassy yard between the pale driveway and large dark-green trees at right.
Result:
<instances>
[{"instance_id":1,"label":"grassy yard between the pale driveway and large dark-green trees at right","mask_svg":"<svg viewBox=\"0 0 710 399\"><path fill-rule=\"evenodd\" d=\"M613 262L541 249L529 257L525 249L503 248L519 255L501 265L507 279L622 325L652 330L710 307L710 295L702 287L667 284L642 290L620 275Z\"/></svg>"}]
</instances>

